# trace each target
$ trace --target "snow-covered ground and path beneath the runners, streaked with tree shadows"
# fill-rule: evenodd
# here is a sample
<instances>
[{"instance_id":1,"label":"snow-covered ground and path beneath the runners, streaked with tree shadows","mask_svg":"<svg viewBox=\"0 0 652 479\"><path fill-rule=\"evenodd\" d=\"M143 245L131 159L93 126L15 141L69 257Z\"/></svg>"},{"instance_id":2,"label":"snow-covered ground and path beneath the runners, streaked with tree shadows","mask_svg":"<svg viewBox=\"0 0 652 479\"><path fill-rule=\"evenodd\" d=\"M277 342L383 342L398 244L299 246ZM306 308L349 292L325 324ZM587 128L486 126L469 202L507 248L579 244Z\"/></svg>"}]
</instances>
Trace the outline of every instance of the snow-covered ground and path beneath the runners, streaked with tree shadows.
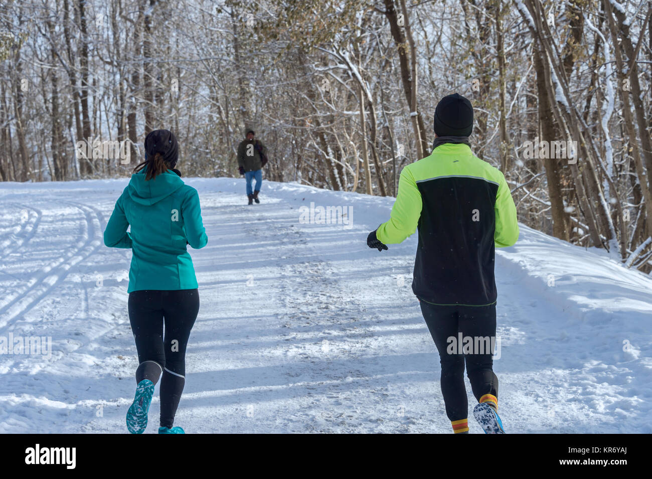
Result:
<instances>
[{"instance_id":1,"label":"snow-covered ground and path beneath the runners, streaked with tree shadows","mask_svg":"<svg viewBox=\"0 0 652 479\"><path fill-rule=\"evenodd\" d=\"M51 336L53 349L0 356L0 432L126 432L131 253L102 243L126 182L0 183L0 338ZM209 244L191 250L201 309L179 426L451 431L410 289L416 235L382 253L365 244L393 199L265 182L248 207L241 179L186 182ZM311 201L353 207L352 227L301 223ZM507 432L652 433L652 279L527 227L496 270Z\"/></svg>"}]
</instances>

